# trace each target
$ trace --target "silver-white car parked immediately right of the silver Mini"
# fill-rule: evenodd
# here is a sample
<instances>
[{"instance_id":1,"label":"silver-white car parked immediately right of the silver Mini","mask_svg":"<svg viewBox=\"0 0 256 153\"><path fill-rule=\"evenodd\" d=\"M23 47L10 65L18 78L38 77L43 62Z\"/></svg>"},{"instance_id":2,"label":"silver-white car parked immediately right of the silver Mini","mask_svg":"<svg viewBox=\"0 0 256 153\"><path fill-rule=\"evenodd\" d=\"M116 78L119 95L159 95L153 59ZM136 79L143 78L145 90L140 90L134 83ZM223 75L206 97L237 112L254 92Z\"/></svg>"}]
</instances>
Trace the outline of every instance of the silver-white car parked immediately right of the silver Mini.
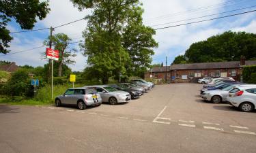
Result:
<instances>
[{"instance_id":1,"label":"silver-white car parked immediately right of the silver Mini","mask_svg":"<svg viewBox=\"0 0 256 153\"><path fill-rule=\"evenodd\" d=\"M128 103L131 96L126 91L117 90L107 85L96 85L96 86L85 86L95 88L102 98L102 102L110 103L115 105L117 103Z\"/></svg>"}]
</instances>

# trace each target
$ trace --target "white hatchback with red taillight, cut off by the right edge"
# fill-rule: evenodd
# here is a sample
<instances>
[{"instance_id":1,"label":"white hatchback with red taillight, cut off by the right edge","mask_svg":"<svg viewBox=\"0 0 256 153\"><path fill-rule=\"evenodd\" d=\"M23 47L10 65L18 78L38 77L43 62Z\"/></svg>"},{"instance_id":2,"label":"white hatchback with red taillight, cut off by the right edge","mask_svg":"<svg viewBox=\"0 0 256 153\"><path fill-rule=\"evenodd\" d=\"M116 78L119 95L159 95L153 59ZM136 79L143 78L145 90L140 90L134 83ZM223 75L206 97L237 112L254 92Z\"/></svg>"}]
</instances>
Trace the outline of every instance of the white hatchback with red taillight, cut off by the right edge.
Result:
<instances>
[{"instance_id":1,"label":"white hatchback with red taillight, cut off by the right edge","mask_svg":"<svg viewBox=\"0 0 256 153\"><path fill-rule=\"evenodd\" d=\"M256 105L256 85L243 85L229 91L229 104L239 107L242 112L252 112Z\"/></svg>"}]
</instances>

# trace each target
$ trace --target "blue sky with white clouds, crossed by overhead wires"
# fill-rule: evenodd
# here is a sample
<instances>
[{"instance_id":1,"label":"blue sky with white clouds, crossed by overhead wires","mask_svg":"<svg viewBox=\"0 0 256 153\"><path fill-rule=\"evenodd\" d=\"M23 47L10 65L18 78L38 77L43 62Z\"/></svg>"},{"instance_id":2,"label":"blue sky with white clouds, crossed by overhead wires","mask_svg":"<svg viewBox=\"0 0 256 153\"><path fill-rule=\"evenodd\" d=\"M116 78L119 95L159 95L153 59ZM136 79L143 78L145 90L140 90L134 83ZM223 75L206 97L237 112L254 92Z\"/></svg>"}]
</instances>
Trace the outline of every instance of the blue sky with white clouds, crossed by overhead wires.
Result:
<instances>
[{"instance_id":1,"label":"blue sky with white clouds, crossed by overhead wires","mask_svg":"<svg viewBox=\"0 0 256 153\"><path fill-rule=\"evenodd\" d=\"M143 23L153 29L256 10L255 0L140 1L143 3L141 7L144 10ZM51 12L44 20L38 20L33 29L56 27L91 14L91 10L79 12L70 0L50 0L50 7ZM155 54L152 56L152 64L165 63L165 57L167 56L167 65L170 65L175 56L184 54L191 44L197 41L203 41L212 35L218 35L225 31L256 33L255 17L256 12L252 12L207 22L158 29L156 30L156 35L154 35L154 39L158 42L158 48L154 48ZM80 41L83 40L82 31L85 30L86 25L86 20L81 20L55 29L53 34L66 33L72 38L72 41ZM23 31L15 20L8 23L8 29L11 32ZM16 62L16 65L31 65L33 67L43 66L48 62L42 59L42 54L44 54L46 48L38 47L43 45L43 41L48 37L49 33L49 30L44 30L12 34L14 39L10 43L9 48L11 54L5 55L0 53L0 61L12 61ZM76 43L70 47L76 48L78 52L76 52L76 56L73 58L76 63L68 66L71 67L72 71L83 71L86 66L86 58L80 51L79 44ZM31 48L38 49L29 50ZM20 52L23 50L27 51Z\"/></svg>"}]
</instances>

